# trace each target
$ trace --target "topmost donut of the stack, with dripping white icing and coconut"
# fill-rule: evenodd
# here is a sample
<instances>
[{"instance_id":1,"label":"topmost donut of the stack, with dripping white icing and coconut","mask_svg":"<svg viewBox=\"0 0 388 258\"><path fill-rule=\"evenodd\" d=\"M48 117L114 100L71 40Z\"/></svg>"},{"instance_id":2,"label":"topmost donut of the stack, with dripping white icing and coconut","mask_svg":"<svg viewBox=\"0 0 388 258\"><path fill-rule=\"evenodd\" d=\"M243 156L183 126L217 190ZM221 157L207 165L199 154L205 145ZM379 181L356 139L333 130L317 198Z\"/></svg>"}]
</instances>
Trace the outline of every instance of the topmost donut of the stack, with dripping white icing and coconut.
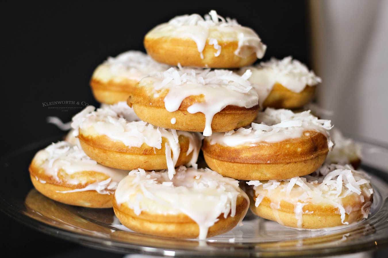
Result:
<instances>
[{"instance_id":1,"label":"topmost donut of the stack, with dripping white icing and coconut","mask_svg":"<svg viewBox=\"0 0 388 258\"><path fill-rule=\"evenodd\" d=\"M209 68L251 65L267 48L255 31L215 10L204 18L181 15L154 27L145 35L144 47L161 63Z\"/></svg>"}]
</instances>

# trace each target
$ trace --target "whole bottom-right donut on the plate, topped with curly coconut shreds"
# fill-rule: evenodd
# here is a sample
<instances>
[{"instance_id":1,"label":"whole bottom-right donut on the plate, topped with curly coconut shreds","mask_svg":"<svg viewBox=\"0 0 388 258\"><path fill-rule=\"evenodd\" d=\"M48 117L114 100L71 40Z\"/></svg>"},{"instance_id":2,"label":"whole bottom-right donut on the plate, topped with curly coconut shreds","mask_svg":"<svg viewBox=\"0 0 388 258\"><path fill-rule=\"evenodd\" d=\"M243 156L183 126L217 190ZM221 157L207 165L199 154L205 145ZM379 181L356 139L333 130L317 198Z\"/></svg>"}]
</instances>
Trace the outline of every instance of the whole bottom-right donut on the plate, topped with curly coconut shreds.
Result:
<instances>
[{"instance_id":1,"label":"whole bottom-right donut on the plate, topped with curly coconut shreds","mask_svg":"<svg viewBox=\"0 0 388 258\"><path fill-rule=\"evenodd\" d=\"M373 189L367 175L350 165L324 165L285 180L249 181L251 210L288 227L322 229L367 218Z\"/></svg>"}]
</instances>

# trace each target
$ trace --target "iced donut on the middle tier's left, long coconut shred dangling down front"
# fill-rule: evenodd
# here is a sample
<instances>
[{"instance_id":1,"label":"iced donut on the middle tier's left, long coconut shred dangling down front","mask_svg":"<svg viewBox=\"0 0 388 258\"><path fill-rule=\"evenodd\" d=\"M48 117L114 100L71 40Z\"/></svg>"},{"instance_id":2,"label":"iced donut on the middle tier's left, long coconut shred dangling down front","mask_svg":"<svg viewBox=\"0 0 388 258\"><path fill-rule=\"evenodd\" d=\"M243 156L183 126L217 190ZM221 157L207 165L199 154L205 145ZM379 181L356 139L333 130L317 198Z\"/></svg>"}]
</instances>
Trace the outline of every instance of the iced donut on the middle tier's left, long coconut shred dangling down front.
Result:
<instances>
[{"instance_id":1,"label":"iced donut on the middle tier's left, long coconut shred dangling down front","mask_svg":"<svg viewBox=\"0 0 388 258\"><path fill-rule=\"evenodd\" d=\"M174 167L196 164L201 135L133 121L133 115L125 103L96 111L88 106L73 117L71 126L85 153L104 166L124 170L168 168L172 177Z\"/></svg>"}]
</instances>

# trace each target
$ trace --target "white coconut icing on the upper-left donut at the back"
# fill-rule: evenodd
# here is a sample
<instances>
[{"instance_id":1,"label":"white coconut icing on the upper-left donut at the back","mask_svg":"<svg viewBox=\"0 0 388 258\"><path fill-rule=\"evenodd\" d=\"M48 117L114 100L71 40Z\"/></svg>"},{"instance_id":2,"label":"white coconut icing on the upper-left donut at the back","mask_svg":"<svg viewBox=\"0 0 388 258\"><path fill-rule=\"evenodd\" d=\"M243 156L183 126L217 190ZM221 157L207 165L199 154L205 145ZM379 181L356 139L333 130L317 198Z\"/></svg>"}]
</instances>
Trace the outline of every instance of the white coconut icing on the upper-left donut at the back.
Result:
<instances>
[{"instance_id":1,"label":"white coconut icing on the upper-left donut at the back","mask_svg":"<svg viewBox=\"0 0 388 258\"><path fill-rule=\"evenodd\" d=\"M125 79L139 81L153 72L163 72L169 67L169 65L154 61L141 51L130 50L116 57L108 57L96 68L92 78L102 82L109 80L121 82Z\"/></svg>"}]
</instances>

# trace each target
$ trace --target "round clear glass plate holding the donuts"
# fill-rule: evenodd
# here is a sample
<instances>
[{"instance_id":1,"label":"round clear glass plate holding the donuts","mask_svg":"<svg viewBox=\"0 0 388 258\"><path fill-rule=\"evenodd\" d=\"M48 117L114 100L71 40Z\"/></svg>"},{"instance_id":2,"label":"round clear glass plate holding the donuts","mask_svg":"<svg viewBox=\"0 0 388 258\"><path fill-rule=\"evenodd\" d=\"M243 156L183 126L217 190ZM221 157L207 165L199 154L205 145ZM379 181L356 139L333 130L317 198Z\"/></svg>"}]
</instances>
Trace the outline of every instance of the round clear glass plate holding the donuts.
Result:
<instances>
[{"instance_id":1,"label":"round clear glass plate holding the donuts","mask_svg":"<svg viewBox=\"0 0 388 258\"><path fill-rule=\"evenodd\" d=\"M296 230L248 212L243 226L206 241L154 237L120 225L113 209L82 208L55 202L33 189L28 165L37 150L59 140L25 146L1 159L6 184L0 207L20 222L47 234L89 247L121 253L169 256L311 256L354 253L388 244L388 174L372 166L374 202L368 219L332 231ZM388 152L386 152L388 153ZM388 160L388 157L385 161Z\"/></svg>"}]
</instances>

